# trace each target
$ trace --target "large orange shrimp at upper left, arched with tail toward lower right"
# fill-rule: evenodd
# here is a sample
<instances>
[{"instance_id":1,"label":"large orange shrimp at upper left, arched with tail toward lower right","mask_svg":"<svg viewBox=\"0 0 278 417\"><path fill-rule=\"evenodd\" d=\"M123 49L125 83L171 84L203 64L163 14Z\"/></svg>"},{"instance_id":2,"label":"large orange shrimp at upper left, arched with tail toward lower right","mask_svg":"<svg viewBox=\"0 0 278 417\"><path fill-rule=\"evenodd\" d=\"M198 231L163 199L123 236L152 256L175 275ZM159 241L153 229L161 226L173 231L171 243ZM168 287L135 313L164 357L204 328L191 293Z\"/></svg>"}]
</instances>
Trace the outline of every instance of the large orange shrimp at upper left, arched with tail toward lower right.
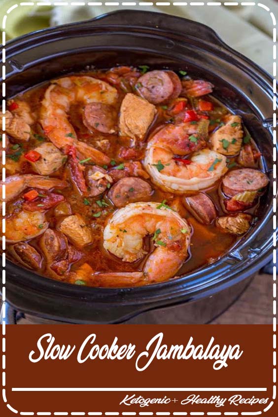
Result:
<instances>
[{"instance_id":1,"label":"large orange shrimp at upper left, arched with tail toward lower right","mask_svg":"<svg viewBox=\"0 0 278 417\"><path fill-rule=\"evenodd\" d=\"M47 137L58 148L76 146L79 153L100 165L110 161L103 152L77 140L68 113L72 104L115 104L117 90L106 82L88 76L69 76L54 80L45 92L40 110L40 123Z\"/></svg>"}]
</instances>

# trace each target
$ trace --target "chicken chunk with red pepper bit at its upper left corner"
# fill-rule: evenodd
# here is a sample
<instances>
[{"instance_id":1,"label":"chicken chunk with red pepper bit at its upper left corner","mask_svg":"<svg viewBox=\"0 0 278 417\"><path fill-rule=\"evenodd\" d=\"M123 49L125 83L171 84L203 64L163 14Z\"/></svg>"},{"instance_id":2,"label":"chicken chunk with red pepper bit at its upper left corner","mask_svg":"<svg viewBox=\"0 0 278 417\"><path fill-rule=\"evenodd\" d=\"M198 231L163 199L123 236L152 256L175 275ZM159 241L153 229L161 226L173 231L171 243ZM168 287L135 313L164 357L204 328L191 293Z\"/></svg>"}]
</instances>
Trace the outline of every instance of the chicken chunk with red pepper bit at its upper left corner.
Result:
<instances>
[{"instance_id":1,"label":"chicken chunk with red pepper bit at its upper left corner","mask_svg":"<svg viewBox=\"0 0 278 417\"><path fill-rule=\"evenodd\" d=\"M65 156L53 143L45 142L34 149L41 155L35 162L30 162L34 171L40 175L49 175L59 170Z\"/></svg>"}]
</instances>

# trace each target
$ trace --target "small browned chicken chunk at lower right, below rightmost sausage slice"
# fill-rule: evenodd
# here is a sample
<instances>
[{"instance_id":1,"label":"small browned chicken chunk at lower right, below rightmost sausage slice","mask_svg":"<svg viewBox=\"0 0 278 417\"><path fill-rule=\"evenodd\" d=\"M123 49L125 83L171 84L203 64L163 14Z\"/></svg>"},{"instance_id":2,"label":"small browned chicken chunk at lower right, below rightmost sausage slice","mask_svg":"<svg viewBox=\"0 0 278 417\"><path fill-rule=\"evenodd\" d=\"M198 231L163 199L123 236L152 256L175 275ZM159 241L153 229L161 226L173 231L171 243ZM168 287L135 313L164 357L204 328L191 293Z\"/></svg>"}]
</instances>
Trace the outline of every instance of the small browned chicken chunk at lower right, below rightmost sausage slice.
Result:
<instances>
[{"instance_id":1,"label":"small browned chicken chunk at lower right, below rightmost sausage slice","mask_svg":"<svg viewBox=\"0 0 278 417\"><path fill-rule=\"evenodd\" d=\"M222 216L216 220L216 226L221 232L232 235L243 235L250 228L252 216L246 213L238 213L235 216Z\"/></svg>"}]
</instances>

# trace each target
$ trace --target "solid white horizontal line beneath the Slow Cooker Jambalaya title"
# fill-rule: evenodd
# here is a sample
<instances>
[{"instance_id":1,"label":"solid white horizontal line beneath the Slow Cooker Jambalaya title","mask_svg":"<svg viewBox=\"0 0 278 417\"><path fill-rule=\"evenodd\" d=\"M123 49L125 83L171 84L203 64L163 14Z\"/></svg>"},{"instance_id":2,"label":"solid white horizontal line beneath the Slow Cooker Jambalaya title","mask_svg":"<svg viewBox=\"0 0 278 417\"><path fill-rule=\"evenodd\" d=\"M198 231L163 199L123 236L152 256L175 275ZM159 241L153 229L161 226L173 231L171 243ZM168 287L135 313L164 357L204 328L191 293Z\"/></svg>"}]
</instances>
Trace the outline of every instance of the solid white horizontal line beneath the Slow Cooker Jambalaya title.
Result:
<instances>
[{"instance_id":1,"label":"solid white horizontal line beneath the Slow Cooker Jambalaya title","mask_svg":"<svg viewBox=\"0 0 278 417\"><path fill-rule=\"evenodd\" d=\"M266 391L267 388L91 388L91 387L76 387L76 388L29 388L29 387L13 387L12 391Z\"/></svg>"}]
</instances>

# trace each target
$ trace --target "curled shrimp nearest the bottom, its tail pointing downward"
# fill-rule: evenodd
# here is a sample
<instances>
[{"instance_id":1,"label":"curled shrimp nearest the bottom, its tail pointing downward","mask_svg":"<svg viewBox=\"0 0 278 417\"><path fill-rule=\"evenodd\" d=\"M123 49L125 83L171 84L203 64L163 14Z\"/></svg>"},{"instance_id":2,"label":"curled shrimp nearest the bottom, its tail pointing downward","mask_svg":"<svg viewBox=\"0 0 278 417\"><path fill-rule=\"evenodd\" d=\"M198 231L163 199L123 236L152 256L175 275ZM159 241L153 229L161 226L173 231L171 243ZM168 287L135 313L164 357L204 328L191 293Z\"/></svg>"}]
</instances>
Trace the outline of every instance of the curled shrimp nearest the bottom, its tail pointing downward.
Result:
<instances>
[{"instance_id":1,"label":"curled shrimp nearest the bottom, its tail pointing downward","mask_svg":"<svg viewBox=\"0 0 278 417\"><path fill-rule=\"evenodd\" d=\"M143 239L149 235L155 249L144 265L144 277L156 282L174 277L187 257L190 226L165 205L131 203L117 210L104 228L104 248L124 262L135 262L147 254Z\"/></svg>"}]
</instances>

